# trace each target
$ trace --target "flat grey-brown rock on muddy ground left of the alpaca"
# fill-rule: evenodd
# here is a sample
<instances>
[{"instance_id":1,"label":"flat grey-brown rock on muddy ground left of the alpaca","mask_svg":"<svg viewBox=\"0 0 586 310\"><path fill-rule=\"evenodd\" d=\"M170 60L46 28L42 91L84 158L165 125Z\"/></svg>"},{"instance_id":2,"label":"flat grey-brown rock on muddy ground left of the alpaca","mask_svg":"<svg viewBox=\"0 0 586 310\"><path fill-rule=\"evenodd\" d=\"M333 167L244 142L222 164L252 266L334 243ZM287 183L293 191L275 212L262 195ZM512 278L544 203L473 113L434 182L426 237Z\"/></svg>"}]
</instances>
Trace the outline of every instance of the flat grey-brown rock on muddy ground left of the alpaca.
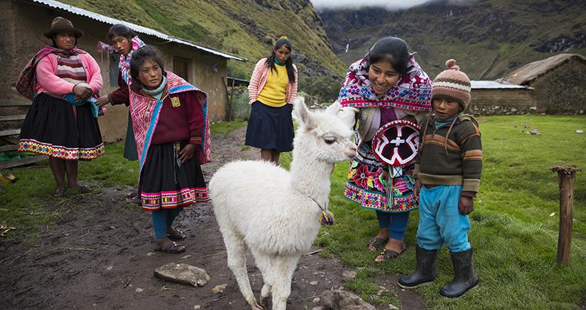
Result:
<instances>
[{"instance_id":1,"label":"flat grey-brown rock on muddy ground left of the alpaca","mask_svg":"<svg viewBox=\"0 0 586 310\"><path fill-rule=\"evenodd\" d=\"M169 282L203 287L210 280L205 270L188 264L170 262L154 271L154 276Z\"/></svg>"}]
</instances>

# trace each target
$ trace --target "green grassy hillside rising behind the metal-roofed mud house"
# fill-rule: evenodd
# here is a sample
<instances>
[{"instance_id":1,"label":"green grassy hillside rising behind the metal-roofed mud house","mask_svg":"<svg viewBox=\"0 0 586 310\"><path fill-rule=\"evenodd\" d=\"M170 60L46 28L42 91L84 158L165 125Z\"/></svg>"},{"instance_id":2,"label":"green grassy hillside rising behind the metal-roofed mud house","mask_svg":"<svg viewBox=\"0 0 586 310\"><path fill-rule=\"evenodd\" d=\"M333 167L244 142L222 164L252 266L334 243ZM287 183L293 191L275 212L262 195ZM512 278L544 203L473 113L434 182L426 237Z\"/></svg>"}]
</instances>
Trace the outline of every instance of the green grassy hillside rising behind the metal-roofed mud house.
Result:
<instances>
[{"instance_id":1,"label":"green grassy hillside rising behind the metal-roofed mud house","mask_svg":"<svg viewBox=\"0 0 586 310\"><path fill-rule=\"evenodd\" d=\"M230 61L232 74L247 78L256 60L287 36L305 75L336 76L345 65L332 52L309 0L63 0L110 17L248 59Z\"/></svg>"}]
</instances>

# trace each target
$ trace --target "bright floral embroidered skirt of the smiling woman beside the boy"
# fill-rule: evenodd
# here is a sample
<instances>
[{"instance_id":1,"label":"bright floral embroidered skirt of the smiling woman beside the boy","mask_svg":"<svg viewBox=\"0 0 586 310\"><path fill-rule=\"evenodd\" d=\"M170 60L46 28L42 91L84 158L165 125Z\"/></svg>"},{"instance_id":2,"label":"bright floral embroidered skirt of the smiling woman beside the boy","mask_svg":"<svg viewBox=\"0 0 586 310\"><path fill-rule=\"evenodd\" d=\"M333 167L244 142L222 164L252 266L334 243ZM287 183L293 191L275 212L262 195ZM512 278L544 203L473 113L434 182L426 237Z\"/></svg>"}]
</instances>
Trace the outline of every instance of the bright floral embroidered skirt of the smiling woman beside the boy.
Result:
<instances>
[{"instance_id":1,"label":"bright floral embroidered skirt of the smiling woman beside the boy","mask_svg":"<svg viewBox=\"0 0 586 310\"><path fill-rule=\"evenodd\" d=\"M407 212L417 209L418 201L413 195L414 166L403 168L401 176L388 180L387 165L378 161L370 141L363 143L358 146L357 155L350 164L344 196L363 208L378 211ZM387 184L391 182L392 186Z\"/></svg>"}]
</instances>

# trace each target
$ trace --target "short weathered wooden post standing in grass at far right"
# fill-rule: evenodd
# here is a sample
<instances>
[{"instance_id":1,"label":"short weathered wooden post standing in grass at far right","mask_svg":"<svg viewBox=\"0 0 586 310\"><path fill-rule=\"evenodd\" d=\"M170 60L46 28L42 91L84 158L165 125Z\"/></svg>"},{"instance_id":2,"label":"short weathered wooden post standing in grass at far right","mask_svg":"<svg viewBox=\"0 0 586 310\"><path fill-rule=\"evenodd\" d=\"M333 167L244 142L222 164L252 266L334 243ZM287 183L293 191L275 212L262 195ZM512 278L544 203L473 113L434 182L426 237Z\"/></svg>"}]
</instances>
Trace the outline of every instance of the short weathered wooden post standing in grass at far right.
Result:
<instances>
[{"instance_id":1,"label":"short weathered wooden post standing in grass at far right","mask_svg":"<svg viewBox=\"0 0 586 310\"><path fill-rule=\"evenodd\" d=\"M556 166L560 183L560 234L558 236L558 264L569 265L569 251L572 248L572 222L574 220L574 180L576 172L582 168L576 166Z\"/></svg>"}]
</instances>

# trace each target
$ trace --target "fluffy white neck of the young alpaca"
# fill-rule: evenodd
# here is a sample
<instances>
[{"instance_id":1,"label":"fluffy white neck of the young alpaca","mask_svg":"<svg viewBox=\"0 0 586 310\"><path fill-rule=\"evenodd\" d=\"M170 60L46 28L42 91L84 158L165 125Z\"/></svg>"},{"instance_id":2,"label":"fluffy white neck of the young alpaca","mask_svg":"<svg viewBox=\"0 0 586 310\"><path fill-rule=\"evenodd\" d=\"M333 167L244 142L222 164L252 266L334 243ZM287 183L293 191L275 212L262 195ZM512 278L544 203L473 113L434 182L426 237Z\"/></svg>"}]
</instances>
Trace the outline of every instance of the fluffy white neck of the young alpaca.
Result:
<instances>
[{"instance_id":1,"label":"fluffy white neck of the young alpaca","mask_svg":"<svg viewBox=\"0 0 586 310\"><path fill-rule=\"evenodd\" d=\"M330 195L330 174L333 164L317 160L307 146L301 144L296 143L293 148L291 186L300 194L314 199L321 207L325 207Z\"/></svg>"}]
</instances>

